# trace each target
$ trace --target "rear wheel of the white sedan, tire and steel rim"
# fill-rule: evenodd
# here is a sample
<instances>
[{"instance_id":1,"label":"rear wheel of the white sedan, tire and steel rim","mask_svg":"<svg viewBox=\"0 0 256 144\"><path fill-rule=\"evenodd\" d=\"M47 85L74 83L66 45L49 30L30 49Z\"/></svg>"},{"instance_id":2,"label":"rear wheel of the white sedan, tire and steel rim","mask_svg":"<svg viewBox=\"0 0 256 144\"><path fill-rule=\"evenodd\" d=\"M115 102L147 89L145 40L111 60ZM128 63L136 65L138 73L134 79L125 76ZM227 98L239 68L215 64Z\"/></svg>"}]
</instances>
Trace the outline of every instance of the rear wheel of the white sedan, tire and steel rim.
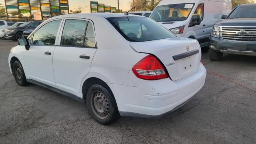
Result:
<instances>
[{"instance_id":1,"label":"rear wheel of the white sedan, tire and steel rim","mask_svg":"<svg viewBox=\"0 0 256 144\"><path fill-rule=\"evenodd\" d=\"M120 117L114 95L104 84L94 84L89 88L86 103L92 118L100 124L111 124Z\"/></svg>"}]
</instances>

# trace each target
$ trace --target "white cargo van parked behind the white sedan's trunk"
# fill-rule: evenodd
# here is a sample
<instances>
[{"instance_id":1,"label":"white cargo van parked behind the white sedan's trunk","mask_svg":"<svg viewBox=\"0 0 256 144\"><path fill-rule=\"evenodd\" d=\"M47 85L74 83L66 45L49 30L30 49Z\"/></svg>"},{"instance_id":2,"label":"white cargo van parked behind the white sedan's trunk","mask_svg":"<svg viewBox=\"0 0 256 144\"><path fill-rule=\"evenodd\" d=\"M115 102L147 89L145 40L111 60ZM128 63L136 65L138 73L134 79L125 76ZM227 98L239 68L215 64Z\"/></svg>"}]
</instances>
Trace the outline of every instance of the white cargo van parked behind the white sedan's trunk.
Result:
<instances>
[{"instance_id":1,"label":"white cargo van parked behind the white sedan's trunk","mask_svg":"<svg viewBox=\"0 0 256 144\"><path fill-rule=\"evenodd\" d=\"M212 26L231 12L231 0L162 0L150 18L174 34L207 46Z\"/></svg>"}]
</instances>

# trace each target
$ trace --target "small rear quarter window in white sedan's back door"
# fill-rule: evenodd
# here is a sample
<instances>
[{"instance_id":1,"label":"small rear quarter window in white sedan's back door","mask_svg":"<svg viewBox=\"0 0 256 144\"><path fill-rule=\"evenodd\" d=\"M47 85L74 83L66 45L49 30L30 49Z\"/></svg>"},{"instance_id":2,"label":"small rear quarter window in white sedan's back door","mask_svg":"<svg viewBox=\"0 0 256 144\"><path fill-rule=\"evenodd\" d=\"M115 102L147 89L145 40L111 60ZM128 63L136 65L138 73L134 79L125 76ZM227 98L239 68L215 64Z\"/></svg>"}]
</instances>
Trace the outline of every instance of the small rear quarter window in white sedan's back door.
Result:
<instances>
[{"instance_id":1,"label":"small rear quarter window in white sedan's back door","mask_svg":"<svg viewBox=\"0 0 256 144\"><path fill-rule=\"evenodd\" d=\"M84 40L84 46L94 47L95 46L95 36L94 30L91 22L88 22Z\"/></svg>"}]
</instances>

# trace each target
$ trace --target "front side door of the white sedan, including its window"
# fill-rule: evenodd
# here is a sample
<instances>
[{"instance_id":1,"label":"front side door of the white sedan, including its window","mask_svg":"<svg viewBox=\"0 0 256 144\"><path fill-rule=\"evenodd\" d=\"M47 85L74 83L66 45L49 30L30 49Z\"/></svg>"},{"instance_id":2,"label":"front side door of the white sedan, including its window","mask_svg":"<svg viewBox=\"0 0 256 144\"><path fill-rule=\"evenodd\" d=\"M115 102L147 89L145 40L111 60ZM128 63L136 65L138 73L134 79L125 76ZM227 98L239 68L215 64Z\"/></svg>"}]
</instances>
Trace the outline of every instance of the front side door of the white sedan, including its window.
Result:
<instances>
[{"instance_id":1,"label":"front side door of the white sedan, including its window","mask_svg":"<svg viewBox=\"0 0 256 144\"><path fill-rule=\"evenodd\" d=\"M28 38L31 42L30 48L24 51L27 78L56 87L52 58L62 20L55 19L45 23Z\"/></svg>"}]
</instances>

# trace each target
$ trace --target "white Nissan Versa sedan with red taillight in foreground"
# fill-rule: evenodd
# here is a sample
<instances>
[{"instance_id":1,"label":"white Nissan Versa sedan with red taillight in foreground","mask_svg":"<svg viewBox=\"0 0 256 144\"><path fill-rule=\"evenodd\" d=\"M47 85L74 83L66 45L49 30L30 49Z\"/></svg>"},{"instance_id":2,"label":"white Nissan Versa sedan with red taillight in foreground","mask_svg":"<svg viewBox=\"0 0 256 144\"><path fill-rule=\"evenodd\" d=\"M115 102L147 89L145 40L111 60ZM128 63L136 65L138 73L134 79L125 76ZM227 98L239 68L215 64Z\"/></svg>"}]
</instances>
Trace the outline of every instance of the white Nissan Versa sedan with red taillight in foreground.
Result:
<instances>
[{"instance_id":1,"label":"white Nissan Versa sedan with red taillight in foreground","mask_svg":"<svg viewBox=\"0 0 256 144\"><path fill-rule=\"evenodd\" d=\"M20 38L9 66L20 86L38 84L86 102L92 118L160 117L204 86L197 40L132 14L69 14Z\"/></svg>"}]
</instances>

